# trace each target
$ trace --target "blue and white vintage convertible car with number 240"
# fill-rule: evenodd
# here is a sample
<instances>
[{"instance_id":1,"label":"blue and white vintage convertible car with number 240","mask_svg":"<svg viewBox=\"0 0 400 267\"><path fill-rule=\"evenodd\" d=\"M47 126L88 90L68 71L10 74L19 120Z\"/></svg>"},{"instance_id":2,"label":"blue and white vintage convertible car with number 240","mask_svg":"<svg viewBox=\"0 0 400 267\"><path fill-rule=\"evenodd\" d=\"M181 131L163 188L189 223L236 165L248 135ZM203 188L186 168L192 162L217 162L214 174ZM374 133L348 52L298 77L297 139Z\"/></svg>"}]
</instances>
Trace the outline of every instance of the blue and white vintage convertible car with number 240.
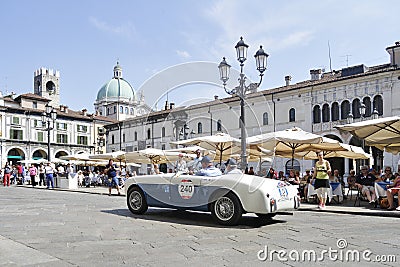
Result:
<instances>
[{"instance_id":1,"label":"blue and white vintage convertible car with number 240","mask_svg":"<svg viewBox=\"0 0 400 267\"><path fill-rule=\"evenodd\" d=\"M237 224L244 213L267 220L277 211L300 206L297 187L246 174L135 176L126 181L125 190L128 208L134 214L145 213L149 206L211 211L215 221L223 225Z\"/></svg>"}]
</instances>

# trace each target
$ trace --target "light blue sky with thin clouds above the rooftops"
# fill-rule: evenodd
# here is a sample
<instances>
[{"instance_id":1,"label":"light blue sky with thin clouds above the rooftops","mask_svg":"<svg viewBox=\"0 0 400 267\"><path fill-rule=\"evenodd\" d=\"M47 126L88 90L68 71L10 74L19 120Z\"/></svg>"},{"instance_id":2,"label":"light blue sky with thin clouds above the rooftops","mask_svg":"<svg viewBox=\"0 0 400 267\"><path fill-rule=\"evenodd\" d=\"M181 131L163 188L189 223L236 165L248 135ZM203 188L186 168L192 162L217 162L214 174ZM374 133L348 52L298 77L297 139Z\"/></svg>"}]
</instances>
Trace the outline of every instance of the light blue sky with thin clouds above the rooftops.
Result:
<instances>
[{"instance_id":1,"label":"light blue sky with thin clouds above the rooftops","mask_svg":"<svg viewBox=\"0 0 400 267\"><path fill-rule=\"evenodd\" d=\"M309 79L310 69L329 70L328 41L332 69L340 69L387 63L385 48L400 40L396 0L15 0L2 1L1 9L0 90L33 92L34 70L53 68L61 72L61 102L90 111L117 60L137 90L185 62L219 63L225 56L237 68L234 46L243 36L250 79L258 80L259 45L270 54L261 86L268 89L282 86L286 75L295 83ZM169 100L226 96L216 86L199 88L180 87ZM160 92L144 95L153 105Z\"/></svg>"}]
</instances>

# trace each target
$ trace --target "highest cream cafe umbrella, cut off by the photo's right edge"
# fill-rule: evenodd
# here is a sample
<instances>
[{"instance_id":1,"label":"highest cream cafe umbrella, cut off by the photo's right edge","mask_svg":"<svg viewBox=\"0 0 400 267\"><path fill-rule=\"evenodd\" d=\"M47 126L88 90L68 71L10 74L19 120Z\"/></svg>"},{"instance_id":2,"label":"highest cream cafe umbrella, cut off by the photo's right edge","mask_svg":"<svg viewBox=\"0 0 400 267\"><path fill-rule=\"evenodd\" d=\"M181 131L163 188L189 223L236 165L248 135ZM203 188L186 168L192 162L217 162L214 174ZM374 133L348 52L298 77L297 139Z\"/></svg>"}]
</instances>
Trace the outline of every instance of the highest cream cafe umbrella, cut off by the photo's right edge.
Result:
<instances>
[{"instance_id":1,"label":"highest cream cafe umbrella, cut off by the photo's right edge","mask_svg":"<svg viewBox=\"0 0 400 267\"><path fill-rule=\"evenodd\" d=\"M400 152L400 116L337 125L335 128L363 139L366 145L393 154Z\"/></svg>"}]
</instances>

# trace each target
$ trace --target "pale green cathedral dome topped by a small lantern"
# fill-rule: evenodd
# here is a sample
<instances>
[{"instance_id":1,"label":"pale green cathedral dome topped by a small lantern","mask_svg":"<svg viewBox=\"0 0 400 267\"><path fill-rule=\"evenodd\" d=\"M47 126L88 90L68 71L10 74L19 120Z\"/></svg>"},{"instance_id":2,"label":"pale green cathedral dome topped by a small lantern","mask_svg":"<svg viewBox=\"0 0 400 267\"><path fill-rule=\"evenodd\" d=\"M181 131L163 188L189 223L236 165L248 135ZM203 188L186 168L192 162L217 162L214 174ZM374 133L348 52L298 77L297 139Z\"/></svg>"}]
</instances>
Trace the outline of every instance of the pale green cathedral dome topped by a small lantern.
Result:
<instances>
[{"instance_id":1,"label":"pale green cathedral dome topped by a small lantern","mask_svg":"<svg viewBox=\"0 0 400 267\"><path fill-rule=\"evenodd\" d=\"M105 83L97 93L96 101L103 100L135 100L136 93L133 87L122 78L122 68L117 62L114 67L114 77Z\"/></svg>"}]
</instances>

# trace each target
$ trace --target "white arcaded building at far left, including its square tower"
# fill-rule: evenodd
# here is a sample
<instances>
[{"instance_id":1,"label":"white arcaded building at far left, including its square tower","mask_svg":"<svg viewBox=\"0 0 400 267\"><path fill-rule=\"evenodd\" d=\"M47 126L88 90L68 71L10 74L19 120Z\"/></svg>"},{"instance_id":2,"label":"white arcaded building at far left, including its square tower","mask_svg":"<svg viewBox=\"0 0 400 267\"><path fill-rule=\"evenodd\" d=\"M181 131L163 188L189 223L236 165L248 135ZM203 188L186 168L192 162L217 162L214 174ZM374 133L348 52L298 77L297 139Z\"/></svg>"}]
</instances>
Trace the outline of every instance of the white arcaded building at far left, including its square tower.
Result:
<instances>
[{"instance_id":1,"label":"white arcaded building at far left, including its square tower","mask_svg":"<svg viewBox=\"0 0 400 267\"><path fill-rule=\"evenodd\" d=\"M48 158L48 131L42 113L50 105L57 119L50 130L50 157L105 151L104 125L112 118L74 111L60 104L60 73L47 68L34 72L34 93L0 93L0 162Z\"/></svg>"}]
</instances>

